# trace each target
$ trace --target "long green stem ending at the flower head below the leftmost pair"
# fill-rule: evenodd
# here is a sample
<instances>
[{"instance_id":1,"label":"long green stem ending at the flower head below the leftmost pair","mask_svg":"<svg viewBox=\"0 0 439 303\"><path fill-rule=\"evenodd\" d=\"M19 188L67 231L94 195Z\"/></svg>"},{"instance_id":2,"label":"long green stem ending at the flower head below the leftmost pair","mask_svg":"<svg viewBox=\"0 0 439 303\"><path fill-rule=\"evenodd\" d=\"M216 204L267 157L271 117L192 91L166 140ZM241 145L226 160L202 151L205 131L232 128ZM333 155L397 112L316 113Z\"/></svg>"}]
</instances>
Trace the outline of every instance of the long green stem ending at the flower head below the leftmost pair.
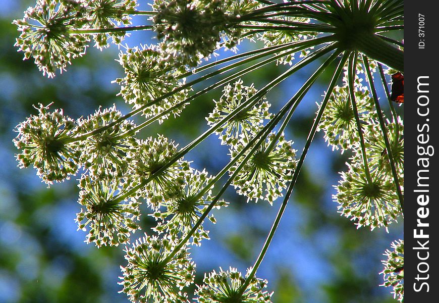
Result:
<instances>
[{"instance_id":1,"label":"long green stem ending at the flower head below the leftmost pair","mask_svg":"<svg viewBox=\"0 0 439 303\"><path fill-rule=\"evenodd\" d=\"M296 72L297 70L303 68L307 64L313 62L317 58L321 57L322 55L326 54L327 52L331 52L336 46L334 44L327 45L318 51L314 52L312 55L306 57L293 67L289 68L286 72L278 76L277 78L270 81L267 85L265 85L261 90L256 92L252 97L250 97L246 102L238 106L232 113L224 117L222 120L218 121L216 124L212 125L208 130L206 130L203 134L201 134L198 138L194 139L191 143L186 145L184 148L182 148L166 165L163 165L160 169L158 169L154 174L149 176L145 181L140 183L138 186L132 188L131 190L127 191L126 193L122 195L116 195L114 197L115 203L118 203L120 201L123 201L127 197L134 194L139 188L142 188L145 184L147 184L150 180L161 174L164 170L166 170L168 167L170 167L173 163L181 159L183 156L185 156L192 148L197 146L200 142L202 142L205 138L207 138L209 135L211 135L213 132L216 131L219 127L221 127L223 124L225 124L227 121L233 119L236 115L238 115L241 111L246 110L247 108L253 106L255 103L258 102L261 96L264 96L269 90L271 90L273 87L281 83L283 80L288 78L291 74Z\"/></svg>"}]
</instances>

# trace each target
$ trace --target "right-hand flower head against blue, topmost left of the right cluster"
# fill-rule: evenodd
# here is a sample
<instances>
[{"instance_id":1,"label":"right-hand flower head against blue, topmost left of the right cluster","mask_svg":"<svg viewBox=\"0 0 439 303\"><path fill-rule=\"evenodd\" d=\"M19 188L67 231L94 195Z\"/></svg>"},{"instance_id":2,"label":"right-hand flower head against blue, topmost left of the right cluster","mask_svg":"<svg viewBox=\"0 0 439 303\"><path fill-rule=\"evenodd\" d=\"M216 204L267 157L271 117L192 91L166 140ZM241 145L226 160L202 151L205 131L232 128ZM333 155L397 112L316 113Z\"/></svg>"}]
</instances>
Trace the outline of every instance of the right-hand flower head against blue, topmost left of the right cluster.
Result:
<instances>
[{"instance_id":1,"label":"right-hand flower head against blue, topmost left of the right cluster","mask_svg":"<svg viewBox=\"0 0 439 303\"><path fill-rule=\"evenodd\" d=\"M373 107L373 100L369 97L368 90L361 84L361 79L355 80L355 102L357 105L360 121L368 123L369 119L376 119L376 112ZM329 93L329 92L328 92ZM358 143L357 125L349 96L349 86L345 78L345 85L336 86L331 94L319 124L319 130L324 131L324 139L334 149L341 149L342 152L352 148Z\"/></svg>"}]
</instances>

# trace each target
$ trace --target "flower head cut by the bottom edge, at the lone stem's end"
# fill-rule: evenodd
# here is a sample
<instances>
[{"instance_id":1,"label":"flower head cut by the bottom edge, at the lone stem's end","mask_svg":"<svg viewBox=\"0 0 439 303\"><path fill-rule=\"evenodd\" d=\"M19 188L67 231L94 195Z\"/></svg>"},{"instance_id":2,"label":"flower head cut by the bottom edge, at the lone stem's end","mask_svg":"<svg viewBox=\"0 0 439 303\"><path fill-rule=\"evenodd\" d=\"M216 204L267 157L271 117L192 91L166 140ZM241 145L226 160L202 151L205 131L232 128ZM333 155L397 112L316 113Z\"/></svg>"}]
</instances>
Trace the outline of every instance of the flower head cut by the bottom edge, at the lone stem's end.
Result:
<instances>
[{"instance_id":1,"label":"flower head cut by the bottom edge, at the lone stem's end","mask_svg":"<svg viewBox=\"0 0 439 303\"><path fill-rule=\"evenodd\" d=\"M204 274L204 285L198 286L196 300L199 303L270 303L273 294L264 291L267 287L267 280L251 278L248 286L242 291L241 286L245 278L248 277L250 270L245 277L236 268L223 271L220 267L219 272L215 271Z\"/></svg>"}]
</instances>

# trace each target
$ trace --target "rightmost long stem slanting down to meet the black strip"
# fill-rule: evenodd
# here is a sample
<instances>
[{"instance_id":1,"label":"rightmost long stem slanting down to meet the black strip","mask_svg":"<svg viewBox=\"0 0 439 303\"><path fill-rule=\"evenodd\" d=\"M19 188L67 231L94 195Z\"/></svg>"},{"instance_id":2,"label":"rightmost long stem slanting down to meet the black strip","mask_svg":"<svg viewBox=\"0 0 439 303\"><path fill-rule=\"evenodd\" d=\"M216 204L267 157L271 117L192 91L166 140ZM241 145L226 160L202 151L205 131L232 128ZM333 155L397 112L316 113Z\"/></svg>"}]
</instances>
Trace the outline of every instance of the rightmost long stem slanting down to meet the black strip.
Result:
<instances>
[{"instance_id":1,"label":"rightmost long stem slanting down to meet the black strip","mask_svg":"<svg viewBox=\"0 0 439 303\"><path fill-rule=\"evenodd\" d=\"M392 175L398 193L399 203L402 212L404 212L404 196L401 192L401 185L399 183L398 173L396 171L395 160L393 159L392 145L390 144L386 124L384 123L384 119L382 117L382 111L381 111L381 107L379 106L378 95L376 94L375 85L373 83L372 74L370 72L369 62L367 61L367 58L364 55L363 55L363 64L366 70L367 81L369 82L370 90L372 91L373 100L375 102L376 112L378 113L379 126L381 127L382 136L384 138L384 142L386 143L387 156L389 157L390 167L392 168ZM395 123L398 124L398 120L395 120Z\"/></svg>"}]
</instances>

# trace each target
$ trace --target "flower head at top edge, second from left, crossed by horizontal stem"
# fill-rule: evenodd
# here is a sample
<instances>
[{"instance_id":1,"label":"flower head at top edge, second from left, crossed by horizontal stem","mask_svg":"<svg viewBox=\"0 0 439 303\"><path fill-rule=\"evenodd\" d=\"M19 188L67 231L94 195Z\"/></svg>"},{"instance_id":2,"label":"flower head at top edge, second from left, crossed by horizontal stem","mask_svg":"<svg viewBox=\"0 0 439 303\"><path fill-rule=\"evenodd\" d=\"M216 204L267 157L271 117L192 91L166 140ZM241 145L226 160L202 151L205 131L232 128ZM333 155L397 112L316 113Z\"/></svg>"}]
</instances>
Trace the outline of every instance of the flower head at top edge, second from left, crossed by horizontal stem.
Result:
<instances>
[{"instance_id":1,"label":"flower head at top edge, second from left, crossed by horizontal stem","mask_svg":"<svg viewBox=\"0 0 439 303\"><path fill-rule=\"evenodd\" d=\"M87 15L90 28L114 28L117 25L131 24L128 12L137 6L136 0L88 0ZM108 47L107 35L113 42L119 44L125 36L125 32L96 33L93 34L95 46L98 48Z\"/></svg>"}]
</instances>

